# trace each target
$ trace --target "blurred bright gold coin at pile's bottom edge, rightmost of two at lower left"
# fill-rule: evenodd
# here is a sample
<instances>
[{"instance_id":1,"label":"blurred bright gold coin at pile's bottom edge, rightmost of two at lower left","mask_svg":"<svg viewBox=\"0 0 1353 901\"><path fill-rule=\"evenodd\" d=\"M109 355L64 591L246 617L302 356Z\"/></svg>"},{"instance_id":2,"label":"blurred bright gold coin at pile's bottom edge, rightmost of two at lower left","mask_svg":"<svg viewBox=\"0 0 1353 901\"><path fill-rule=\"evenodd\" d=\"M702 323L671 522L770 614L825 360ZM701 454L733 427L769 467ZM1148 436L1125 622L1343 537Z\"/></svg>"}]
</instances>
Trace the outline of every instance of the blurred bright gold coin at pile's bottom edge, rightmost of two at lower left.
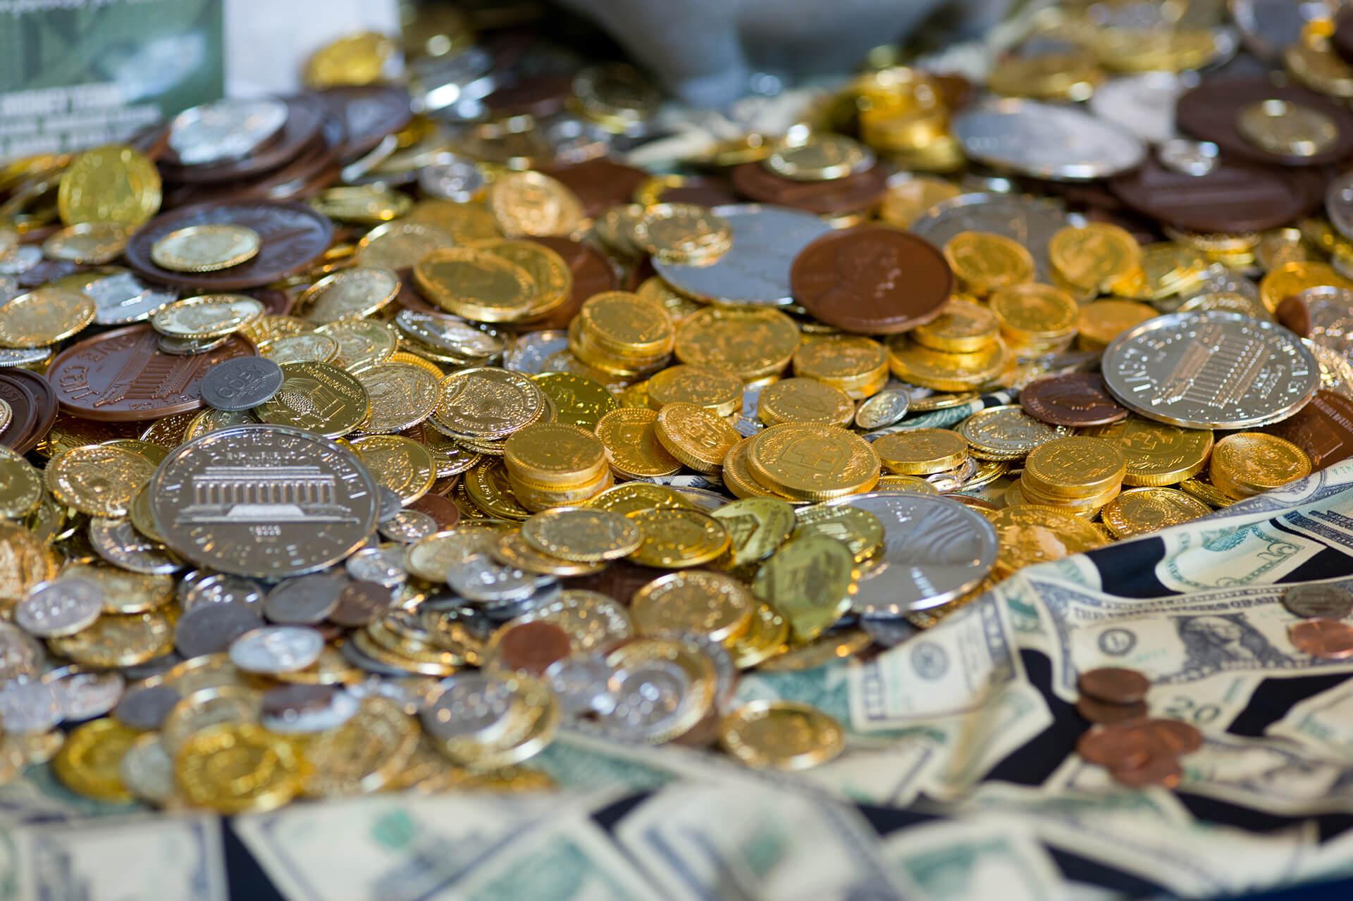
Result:
<instances>
[{"instance_id":1,"label":"blurred bright gold coin at pile's bottom edge, rightmost of two at lower left","mask_svg":"<svg viewBox=\"0 0 1353 901\"><path fill-rule=\"evenodd\" d=\"M226 814L280 808L296 797L300 774L292 744L253 722L207 726L175 759L184 800Z\"/></svg>"}]
</instances>

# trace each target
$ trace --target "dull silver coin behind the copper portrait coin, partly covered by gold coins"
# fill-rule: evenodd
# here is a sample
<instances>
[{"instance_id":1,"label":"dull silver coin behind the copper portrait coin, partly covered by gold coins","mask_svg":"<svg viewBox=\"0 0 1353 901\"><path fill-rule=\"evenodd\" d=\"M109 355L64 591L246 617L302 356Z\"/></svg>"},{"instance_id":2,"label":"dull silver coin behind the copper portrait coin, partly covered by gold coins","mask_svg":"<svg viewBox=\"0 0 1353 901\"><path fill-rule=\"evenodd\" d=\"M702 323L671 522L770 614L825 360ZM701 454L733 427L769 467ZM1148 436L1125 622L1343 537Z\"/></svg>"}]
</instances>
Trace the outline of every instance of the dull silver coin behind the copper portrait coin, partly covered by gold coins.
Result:
<instances>
[{"instance_id":1,"label":"dull silver coin behind the copper portrait coin, partly covered by gold coins","mask_svg":"<svg viewBox=\"0 0 1353 901\"><path fill-rule=\"evenodd\" d=\"M1051 200L1005 193L961 193L942 200L912 222L912 234L943 248L959 231L990 231L1024 245L1034 254L1038 281L1051 279L1047 242L1072 225Z\"/></svg>"}]
</instances>

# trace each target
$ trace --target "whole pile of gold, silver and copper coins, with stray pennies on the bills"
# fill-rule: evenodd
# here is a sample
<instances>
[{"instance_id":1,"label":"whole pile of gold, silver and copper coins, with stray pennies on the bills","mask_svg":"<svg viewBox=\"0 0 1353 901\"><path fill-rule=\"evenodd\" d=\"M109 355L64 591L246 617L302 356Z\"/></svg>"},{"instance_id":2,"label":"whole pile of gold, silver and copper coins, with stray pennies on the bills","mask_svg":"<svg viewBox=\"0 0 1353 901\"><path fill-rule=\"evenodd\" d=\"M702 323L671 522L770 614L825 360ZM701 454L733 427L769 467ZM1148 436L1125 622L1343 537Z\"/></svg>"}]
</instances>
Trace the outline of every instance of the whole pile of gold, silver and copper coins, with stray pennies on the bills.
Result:
<instances>
[{"instance_id":1,"label":"whole pile of gold, silver and copper coins, with stray pennies on the bills","mask_svg":"<svg viewBox=\"0 0 1353 901\"><path fill-rule=\"evenodd\" d=\"M636 69L468 32L11 161L0 779L533 789L561 732L810 767L846 726L740 672L1353 456L1353 23L1237 18L1295 87L1181 74L1237 51L1216 9L1124 5L662 175ZM1288 606L1353 653L1348 598ZM1081 689L1081 755L1174 785L1196 733Z\"/></svg>"}]
</instances>

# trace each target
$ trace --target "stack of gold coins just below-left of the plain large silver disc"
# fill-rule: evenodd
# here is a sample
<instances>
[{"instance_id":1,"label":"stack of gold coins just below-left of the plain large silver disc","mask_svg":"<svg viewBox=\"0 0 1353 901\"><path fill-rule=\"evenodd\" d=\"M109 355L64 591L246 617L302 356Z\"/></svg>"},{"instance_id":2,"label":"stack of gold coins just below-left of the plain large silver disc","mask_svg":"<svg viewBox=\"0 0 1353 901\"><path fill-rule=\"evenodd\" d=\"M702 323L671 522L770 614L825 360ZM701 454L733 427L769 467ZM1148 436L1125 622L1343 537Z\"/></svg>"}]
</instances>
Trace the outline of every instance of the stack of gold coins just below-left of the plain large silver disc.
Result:
<instances>
[{"instance_id":1,"label":"stack of gold coins just below-left of the plain large silver disc","mask_svg":"<svg viewBox=\"0 0 1353 901\"><path fill-rule=\"evenodd\" d=\"M593 295L568 326L574 356L618 379L660 369L675 341L667 311L629 291Z\"/></svg>"}]
</instances>

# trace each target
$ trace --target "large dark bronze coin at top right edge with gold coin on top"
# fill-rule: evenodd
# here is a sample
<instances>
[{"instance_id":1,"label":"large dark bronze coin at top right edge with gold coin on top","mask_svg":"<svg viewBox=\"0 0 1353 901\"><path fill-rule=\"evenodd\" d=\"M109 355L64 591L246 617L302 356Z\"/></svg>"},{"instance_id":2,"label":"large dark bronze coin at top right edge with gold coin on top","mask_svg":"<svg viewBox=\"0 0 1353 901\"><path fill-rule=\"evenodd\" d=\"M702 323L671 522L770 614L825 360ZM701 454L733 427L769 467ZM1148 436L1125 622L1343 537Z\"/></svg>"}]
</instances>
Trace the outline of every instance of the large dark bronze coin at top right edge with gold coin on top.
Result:
<instances>
[{"instance_id":1,"label":"large dark bronze coin at top right edge with gold coin on top","mask_svg":"<svg viewBox=\"0 0 1353 901\"><path fill-rule=\"evenodd\" d=\"M1285 100L1329 116L1338 129L1334 146L1308 157L1270 153L1257 147L1241 134L1237 118L1241 110L1261 100ZM1200 141L1211 141L1223 154L1250 162L1318 166L1338 162L1353 153L1353 114L1314 91L1298 87L1279 88L1266 77L1208 80L1180 95L1174 104L1174 122L1181 131Z\"/></svg>"}]
</instances>

